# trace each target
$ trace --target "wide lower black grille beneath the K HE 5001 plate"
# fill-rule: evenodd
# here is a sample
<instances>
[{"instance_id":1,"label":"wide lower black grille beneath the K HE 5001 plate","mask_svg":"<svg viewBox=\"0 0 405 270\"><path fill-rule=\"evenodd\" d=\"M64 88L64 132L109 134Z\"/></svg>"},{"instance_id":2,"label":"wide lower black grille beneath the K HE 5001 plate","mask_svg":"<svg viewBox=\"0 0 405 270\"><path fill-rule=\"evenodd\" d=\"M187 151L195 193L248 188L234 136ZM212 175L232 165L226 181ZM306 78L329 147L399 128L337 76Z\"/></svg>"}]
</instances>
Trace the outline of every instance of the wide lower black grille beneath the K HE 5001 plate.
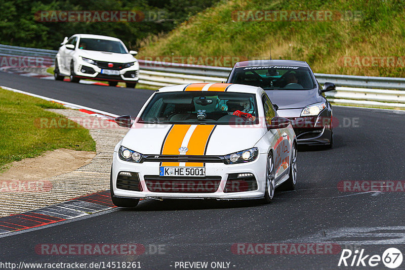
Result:
<instances>
[{"instance_id":1,"label":"wide lower black grille beneath the K HE 5001 plate","mask_svg":"<svg viewBox=\"0 0 405 270\"><path fill-rule=\"evenodd\" d=\"M177 177L145 175L146 187L151 192L214 193L221 183L221 176Z\"/></svg>"}]
</instances>

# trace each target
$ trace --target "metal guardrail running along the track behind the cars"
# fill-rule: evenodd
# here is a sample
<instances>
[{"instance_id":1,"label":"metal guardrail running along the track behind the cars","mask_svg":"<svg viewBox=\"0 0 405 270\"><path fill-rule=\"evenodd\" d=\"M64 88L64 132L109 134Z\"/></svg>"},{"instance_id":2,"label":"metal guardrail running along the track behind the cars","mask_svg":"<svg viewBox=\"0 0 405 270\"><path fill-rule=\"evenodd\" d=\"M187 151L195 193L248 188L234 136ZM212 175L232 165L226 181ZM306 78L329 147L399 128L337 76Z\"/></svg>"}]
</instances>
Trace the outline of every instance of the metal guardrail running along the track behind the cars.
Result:
<instances>
[{"instance_id":1,"label":"metal guardrail running along the track behind the cars","mask_svg":"<svg viewBox=\"0 0 405 270\"><path fill-rule=\"evenodd\" d=\"M14 47L0 44L0 57L49 57L53 62L57 51ZM180 63L138 60L141 71L139 82L153 87L192 82L225 81L232 68L187 65ZM47 64L52 64L48 63ZM331 102L405 108L405 78L351 76L315 73L319 83L334 82L337 90L327 92Z\"/></svg>"}]
</instances>

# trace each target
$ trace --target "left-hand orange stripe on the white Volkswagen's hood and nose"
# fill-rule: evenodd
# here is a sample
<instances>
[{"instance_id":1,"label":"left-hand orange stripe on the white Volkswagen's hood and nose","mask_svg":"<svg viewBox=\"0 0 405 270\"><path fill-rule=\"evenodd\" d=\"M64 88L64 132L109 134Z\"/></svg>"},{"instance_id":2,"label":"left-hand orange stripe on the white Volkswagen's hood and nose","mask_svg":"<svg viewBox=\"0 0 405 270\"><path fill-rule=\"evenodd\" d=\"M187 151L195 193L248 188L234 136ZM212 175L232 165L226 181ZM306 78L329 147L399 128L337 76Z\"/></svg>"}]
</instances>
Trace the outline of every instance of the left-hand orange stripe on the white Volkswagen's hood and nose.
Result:
<instances>
[{"instance_id":1,"label":"left-hand orange stripe on the white Volkswagen's hood and nose","mask_svg":"<svg viewBox=\"0 0 405 270\"><path fill-rule=\"evenodd\" d=\"M191 125L174 125L166 138L162 155L178 155L184 136ZM179 162L162 162L162 166L179 166Z\"/></svg>"}]
</instances>

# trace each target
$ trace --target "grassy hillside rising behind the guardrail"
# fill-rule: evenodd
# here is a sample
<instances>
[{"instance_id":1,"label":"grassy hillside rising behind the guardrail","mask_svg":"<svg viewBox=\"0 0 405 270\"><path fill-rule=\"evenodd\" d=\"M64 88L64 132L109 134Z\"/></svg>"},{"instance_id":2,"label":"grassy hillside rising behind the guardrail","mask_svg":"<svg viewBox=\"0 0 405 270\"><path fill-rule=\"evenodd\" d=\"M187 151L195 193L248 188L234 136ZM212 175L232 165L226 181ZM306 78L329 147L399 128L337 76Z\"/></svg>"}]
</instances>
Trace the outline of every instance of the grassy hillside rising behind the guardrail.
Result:
<instances>
[{"instance_id":1,"label":"grassy hillside rising behind the guardrail","mask_svg":"<svg viewBox=\"0 0 405 270\"><path fill-rule=\"evenodd\" d=\"M248 10L331 11L333 19L237 20L236 11ZM357 14L357 18L339 17L339 14L350 15L345 11ZM247 15L239 18L246 19ZM221 1L166 35L144 39L139 56L268 59L271 42L273 59L307 61L314 72L404 77L403 18L402 0ZM346 64L344 57L350 59ZM364 57L383 57L383 62L378 58L371 62ZM388 65L387 59L391 59Z\"/></svg>"}]
</instances>

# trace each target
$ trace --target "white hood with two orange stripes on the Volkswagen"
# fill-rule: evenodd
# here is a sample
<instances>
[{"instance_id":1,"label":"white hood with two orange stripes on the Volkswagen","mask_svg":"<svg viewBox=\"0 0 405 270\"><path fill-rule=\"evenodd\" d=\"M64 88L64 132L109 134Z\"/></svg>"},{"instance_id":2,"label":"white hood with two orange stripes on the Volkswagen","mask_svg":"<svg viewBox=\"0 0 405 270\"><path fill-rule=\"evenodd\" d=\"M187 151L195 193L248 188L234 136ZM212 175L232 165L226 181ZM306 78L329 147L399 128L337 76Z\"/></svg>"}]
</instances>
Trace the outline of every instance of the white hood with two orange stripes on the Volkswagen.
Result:
<instances>
[{"instance_id":1,"label":"white hood with two orange stripes on the Volkswagen","mask_svg":"<svg viewBox=\"0 0 405 270\"><path fill-rule=\"evenodd\" d=\"M187 135L187 126L195 127L189 132L186 155L227 155L249 149L264 136L259 125L244 127L231 125L151 125L136 123L123 139L121 145L141 154L159 155L165 142L165 154L179 155L178 149ZM187 140L187 138L186 138Z\"/></svg>"}]
</instances>

